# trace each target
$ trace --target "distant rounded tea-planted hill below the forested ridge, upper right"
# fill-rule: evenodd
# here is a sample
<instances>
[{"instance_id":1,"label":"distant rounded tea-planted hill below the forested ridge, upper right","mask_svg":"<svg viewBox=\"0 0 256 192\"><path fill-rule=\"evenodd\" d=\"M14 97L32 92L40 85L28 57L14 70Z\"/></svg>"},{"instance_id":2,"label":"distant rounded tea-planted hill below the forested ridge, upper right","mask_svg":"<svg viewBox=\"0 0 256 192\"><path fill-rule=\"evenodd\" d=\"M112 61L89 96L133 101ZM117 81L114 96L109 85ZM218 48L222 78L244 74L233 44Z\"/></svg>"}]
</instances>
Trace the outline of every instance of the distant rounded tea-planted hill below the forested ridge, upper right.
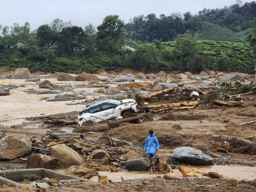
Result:
<instances>
[{"instance_id":1,"label":"distant rounded tea-planted hill below the forested ridge, upper right","mask_svg":"<svg viewBox=\"0 0 256 192\"><path fill-rule=\"evenodd\" d=\"M199 39L246 43L246 32L234 33L219 25L207 22L199 23Z\"/></svg>"}]
</instances>

